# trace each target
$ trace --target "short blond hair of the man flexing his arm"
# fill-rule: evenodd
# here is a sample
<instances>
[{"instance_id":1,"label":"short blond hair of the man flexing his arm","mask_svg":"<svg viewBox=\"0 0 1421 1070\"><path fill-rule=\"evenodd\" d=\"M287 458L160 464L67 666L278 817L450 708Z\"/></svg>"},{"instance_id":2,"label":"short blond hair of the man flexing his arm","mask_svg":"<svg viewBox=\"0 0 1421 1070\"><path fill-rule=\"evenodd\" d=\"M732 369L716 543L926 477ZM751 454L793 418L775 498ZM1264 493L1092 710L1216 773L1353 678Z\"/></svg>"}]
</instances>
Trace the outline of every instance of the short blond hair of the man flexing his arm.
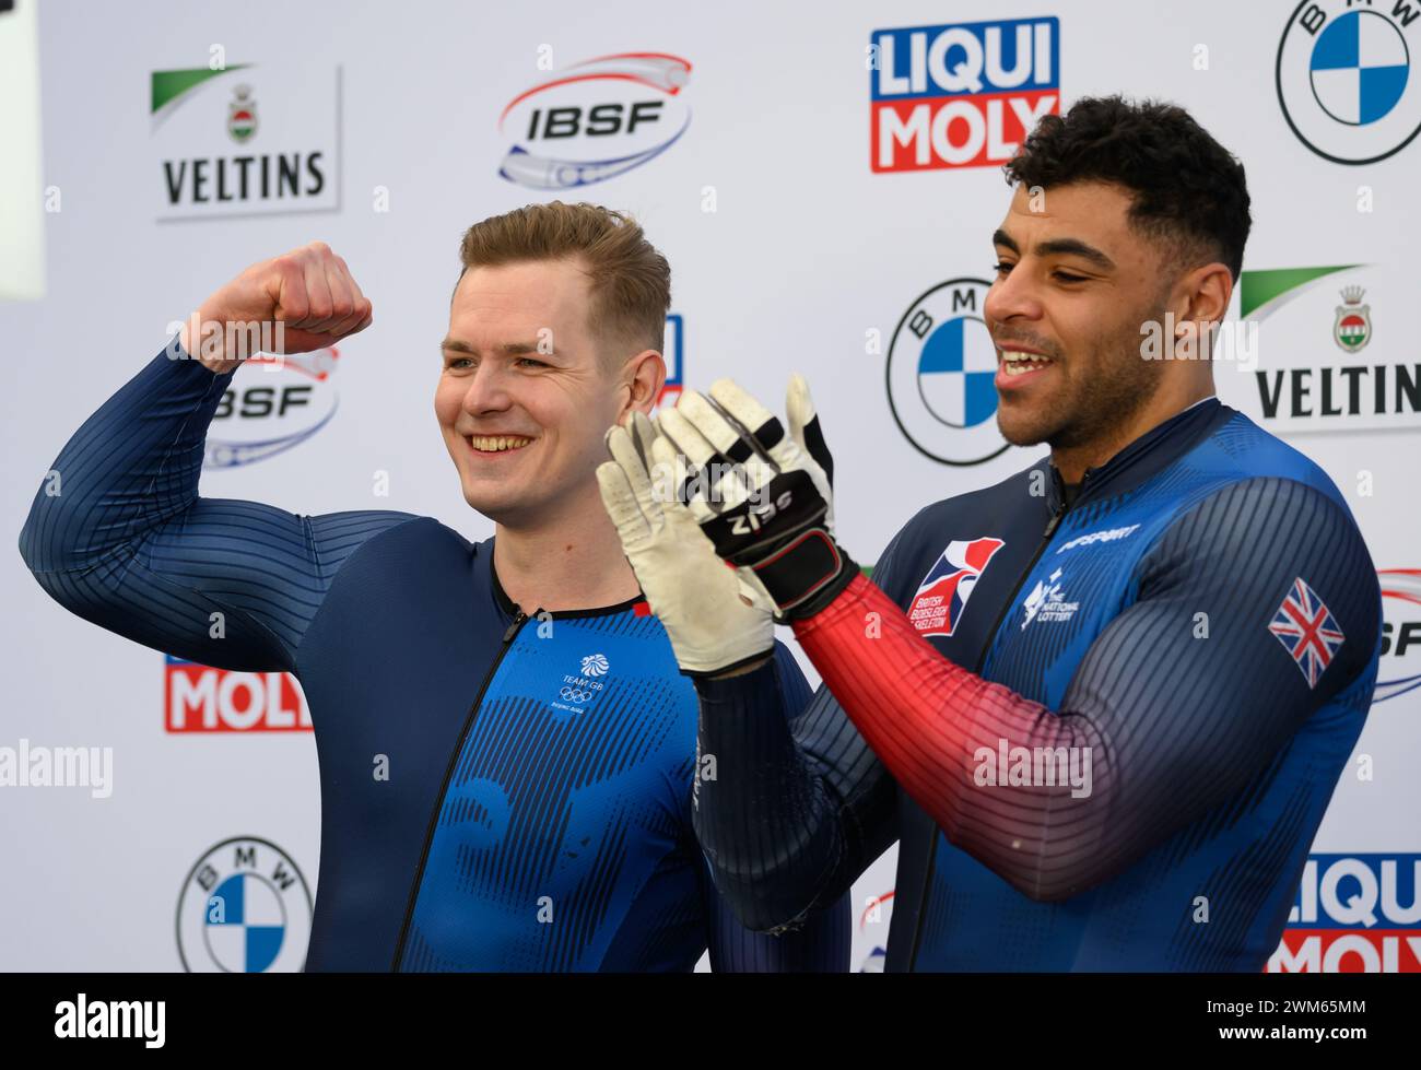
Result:
<instances>
[{"instance_id":1,"label":"short blond hair of the man flexing his arm","mask_svg":"<svg viewBox=\"0 0 1421 1070\"><path fill-rule=\"evenodd\" d=\"M561 200L526 205L469 227L459 260L460 280L470 267L574 260L588 279L587 324L598 341L657 352L665 344L671 264L624 212Z\"/></svg>"}]
</instances>

